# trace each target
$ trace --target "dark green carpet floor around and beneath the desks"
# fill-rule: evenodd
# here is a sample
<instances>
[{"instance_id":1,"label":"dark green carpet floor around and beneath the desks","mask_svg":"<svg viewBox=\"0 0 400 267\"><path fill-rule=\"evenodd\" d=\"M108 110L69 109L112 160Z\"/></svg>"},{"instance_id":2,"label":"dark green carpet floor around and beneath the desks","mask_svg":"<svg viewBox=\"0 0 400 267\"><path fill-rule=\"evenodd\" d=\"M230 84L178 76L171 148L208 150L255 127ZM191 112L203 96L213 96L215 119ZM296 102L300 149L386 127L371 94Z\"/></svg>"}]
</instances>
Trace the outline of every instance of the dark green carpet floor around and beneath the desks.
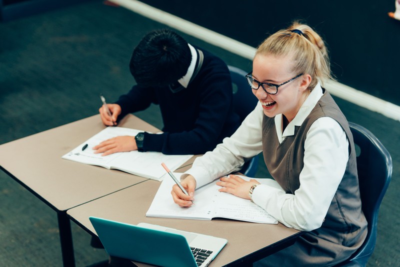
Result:
<instances>
[{"instance_id":1,"label":"dark green carpet floor around and beneath the desks","mask_svg":"<svg viewBox=\"0 0 400 267\"><path fill-rule=\"evenodd\" d=\"M162 27L100 1L0 23L0 144L96 114L99 93L113 101L134 83L132 49L146 32ZM247 59L182 35L230 65L251 69ZM335 99L348 120L372 131L393 158L368 266L399 266L400 122ZM136 115L162 127L157 106ZM262 158L256 176L268 176ZM89 245L89 234L71 224L76 265L106 259L104 250ZM55 212L0 171L0 266L61 265Z\"/></svg>"}]
</instances>

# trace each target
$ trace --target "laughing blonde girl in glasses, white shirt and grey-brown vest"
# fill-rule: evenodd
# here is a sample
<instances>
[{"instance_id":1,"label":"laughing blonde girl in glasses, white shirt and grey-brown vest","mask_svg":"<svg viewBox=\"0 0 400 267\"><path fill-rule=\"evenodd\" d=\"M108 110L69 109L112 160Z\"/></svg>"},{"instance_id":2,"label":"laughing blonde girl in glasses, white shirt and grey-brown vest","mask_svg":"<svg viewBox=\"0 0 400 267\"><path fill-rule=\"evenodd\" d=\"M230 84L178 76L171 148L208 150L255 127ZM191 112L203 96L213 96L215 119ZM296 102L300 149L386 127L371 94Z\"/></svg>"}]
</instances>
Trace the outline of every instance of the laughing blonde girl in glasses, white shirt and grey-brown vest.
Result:
<instances>
[{"instance_id":1,"label":"laughing blonde girl in glasses, white shirt and grey-brown vest","mask_svg":"<svg viewBox=\"0 0 400 267\"><path fill-rule=\"evenodd\" d=\"M331 78L323 40L308 25L294 22L259 45L245 78L258 104L231 137L182 175L189 196L175 185L175 203L190 206L195 188L220 177L220 191L249 199L284 225L306 231L254 266L342 262L362 244L367 228L352 135L321 87ZM268 184L227 175L261 151L272 176Z\"/></svg>"}]
</instances>

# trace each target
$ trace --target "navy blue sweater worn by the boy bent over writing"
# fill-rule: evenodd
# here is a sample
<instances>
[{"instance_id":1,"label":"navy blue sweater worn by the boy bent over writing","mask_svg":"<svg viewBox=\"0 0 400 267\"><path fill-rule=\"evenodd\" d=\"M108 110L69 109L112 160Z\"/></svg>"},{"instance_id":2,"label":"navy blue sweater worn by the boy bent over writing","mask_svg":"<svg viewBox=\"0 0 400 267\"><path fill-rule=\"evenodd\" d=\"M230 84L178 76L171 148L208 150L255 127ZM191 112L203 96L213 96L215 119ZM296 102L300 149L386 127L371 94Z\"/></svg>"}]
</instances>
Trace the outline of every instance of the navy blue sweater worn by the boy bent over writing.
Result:
<instances>
[{"instance_id":1,"label":"navy blue sweater worn by the boy bent over writing","mask_svg":"<svg viewBox=\"0 0 400 267\"><path fill-rule=\"evenodd\" d=\"M146 132L143 150L164 154L201 154L212 150L240 124L233 112L232 83L226 64L203 51L202 66L187 88L172 93L168 87L134 85L115 103L120 117L143 110L151 103L161 110L162 134Z\"/></svg>"}]
</instances>

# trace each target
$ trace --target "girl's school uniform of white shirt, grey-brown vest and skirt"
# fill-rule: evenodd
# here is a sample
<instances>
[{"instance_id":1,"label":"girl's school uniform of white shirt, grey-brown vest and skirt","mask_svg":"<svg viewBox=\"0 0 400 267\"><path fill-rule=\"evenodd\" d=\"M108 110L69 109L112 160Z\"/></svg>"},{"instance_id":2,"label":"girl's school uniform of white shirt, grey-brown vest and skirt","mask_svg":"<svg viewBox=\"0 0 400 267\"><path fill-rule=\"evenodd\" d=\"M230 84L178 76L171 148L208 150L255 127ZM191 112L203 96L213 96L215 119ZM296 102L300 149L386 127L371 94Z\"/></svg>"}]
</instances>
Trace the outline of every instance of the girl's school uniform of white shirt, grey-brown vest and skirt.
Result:
<instances>
[{"instance_id":1,"label":"girl's school uniform of white shirt, grey-brown vest and skirt","mask_svg":"<svg viewBox=\"0 0 400 267\"><path fill-rule=\"evenodd\" d=\"M199 187L261 151L273 179L254 188L253 201L306 232L254 266L331 266L348 258L365 239L367 223L352 135L330 94L318 83L284 130L282 115L269 118L258 103L231 138L197 158L182 178L193 175Z\"/></svg>"}]
</instances>

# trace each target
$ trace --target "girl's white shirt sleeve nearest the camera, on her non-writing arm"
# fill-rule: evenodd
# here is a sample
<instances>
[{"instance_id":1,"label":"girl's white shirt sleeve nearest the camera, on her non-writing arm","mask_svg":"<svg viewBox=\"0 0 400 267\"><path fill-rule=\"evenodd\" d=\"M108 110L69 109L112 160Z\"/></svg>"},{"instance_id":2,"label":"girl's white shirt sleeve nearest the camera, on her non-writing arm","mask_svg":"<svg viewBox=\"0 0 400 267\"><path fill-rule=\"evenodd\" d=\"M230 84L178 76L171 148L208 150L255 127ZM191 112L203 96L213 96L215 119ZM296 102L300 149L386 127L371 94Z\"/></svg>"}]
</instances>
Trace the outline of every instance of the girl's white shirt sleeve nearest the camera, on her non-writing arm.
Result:
<instances>
[{"instance_id":1,"label":"girl's white shirt sleeve nearest the camera, on her non-writing arm","mask_svg":"<svg viewBox=\"0 0 400 267\"><path fill-rule=\"evenodd\" d=\"M309 128L304 150L300 187L294 194L285 193L276 185L260 184L255 187L252 199L284 225L310 231L322 225L343 177L348 140L337 121L321 117Z\"/></svg>"}]
</instances>

